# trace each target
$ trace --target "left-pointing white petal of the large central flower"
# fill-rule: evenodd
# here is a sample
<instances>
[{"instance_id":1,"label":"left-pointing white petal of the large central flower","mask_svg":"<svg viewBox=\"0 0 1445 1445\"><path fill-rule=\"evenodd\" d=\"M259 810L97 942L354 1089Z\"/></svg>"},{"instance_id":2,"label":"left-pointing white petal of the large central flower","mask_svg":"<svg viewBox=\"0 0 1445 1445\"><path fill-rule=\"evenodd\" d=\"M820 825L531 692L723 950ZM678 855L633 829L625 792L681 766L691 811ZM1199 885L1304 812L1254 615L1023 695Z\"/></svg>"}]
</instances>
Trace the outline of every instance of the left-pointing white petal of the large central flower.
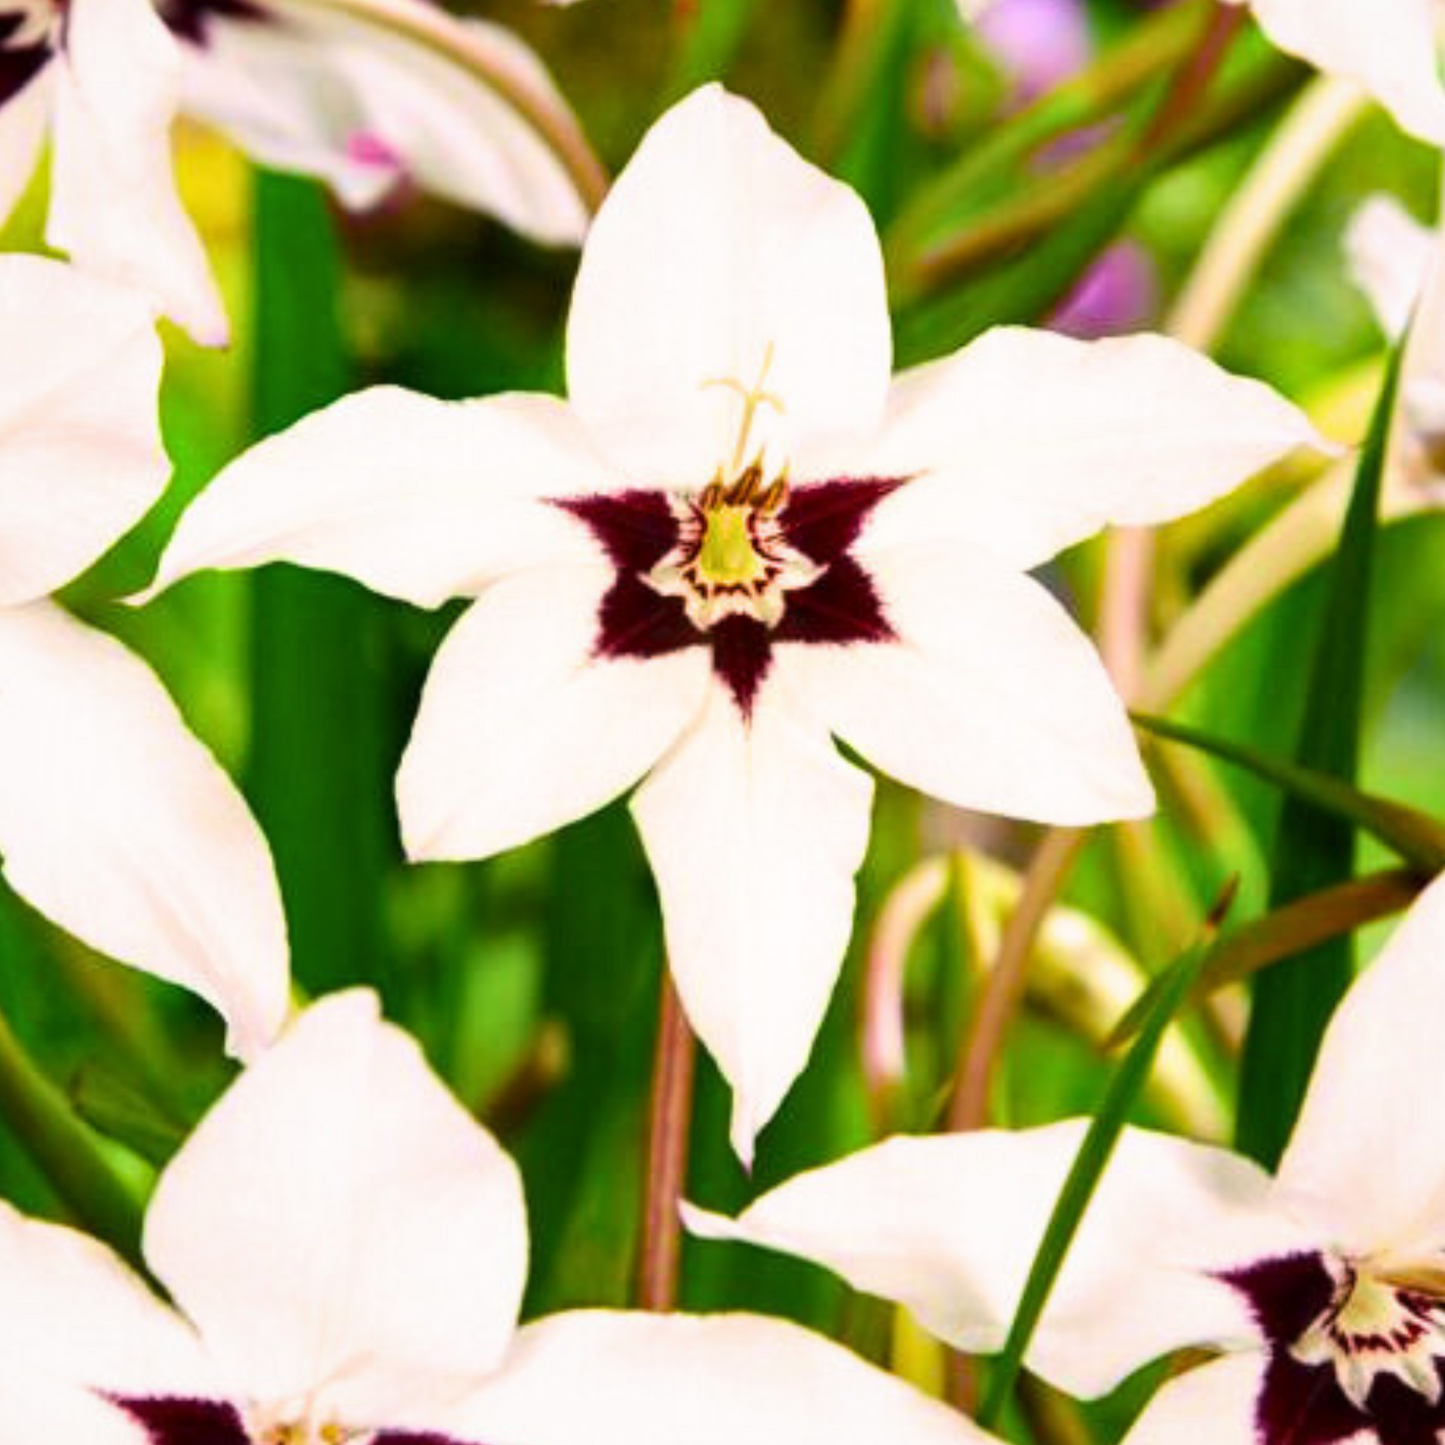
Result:
<instances>
[{"instance_id":1,"label":"left-pointing white petal of the large central flower","mask_svg":"<svg viewBox=\"0 0 1445 1445\"><path fill-rule=\"evenodd\" d=\"M438 402L379 386L244 452L189 506L152 592L202 568L298 562L418 607L543 562L597 561L538 499L610 474L564 402Z\"/></svg>"}]
</instances>

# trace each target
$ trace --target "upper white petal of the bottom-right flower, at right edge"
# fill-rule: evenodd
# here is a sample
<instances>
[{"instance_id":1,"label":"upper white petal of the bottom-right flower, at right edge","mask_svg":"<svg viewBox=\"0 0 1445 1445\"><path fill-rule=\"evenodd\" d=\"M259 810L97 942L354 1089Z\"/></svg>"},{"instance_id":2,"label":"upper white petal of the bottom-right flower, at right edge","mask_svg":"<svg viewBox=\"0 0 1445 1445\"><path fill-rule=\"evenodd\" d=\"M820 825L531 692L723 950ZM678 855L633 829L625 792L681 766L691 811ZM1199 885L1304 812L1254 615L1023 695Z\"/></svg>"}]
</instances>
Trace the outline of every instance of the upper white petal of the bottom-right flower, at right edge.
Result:
<instances>
[{"instance_id":1,"label":"upper white petal of the bottom-right flower, at right edge","mask_svg":"<svg viewBox=\"0 0 1445 1445\"><path fill-rule=\"evenodd\" d=\"M1410 907L1325 1033L1279 1168L1282 1199L1351 1251L1445 1238L1445 880Z\"/></svg>"}]
</instances>

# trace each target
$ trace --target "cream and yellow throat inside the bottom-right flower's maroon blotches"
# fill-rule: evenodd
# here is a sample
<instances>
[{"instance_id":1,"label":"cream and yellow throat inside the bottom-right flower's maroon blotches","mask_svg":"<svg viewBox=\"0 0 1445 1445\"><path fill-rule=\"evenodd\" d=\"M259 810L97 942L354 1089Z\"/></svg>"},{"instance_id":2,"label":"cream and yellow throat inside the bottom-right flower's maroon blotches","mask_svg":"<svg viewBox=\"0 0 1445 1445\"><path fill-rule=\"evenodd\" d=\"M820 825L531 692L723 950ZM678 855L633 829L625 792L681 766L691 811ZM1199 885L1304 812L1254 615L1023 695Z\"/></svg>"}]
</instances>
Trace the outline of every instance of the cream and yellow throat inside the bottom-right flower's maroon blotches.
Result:
<instances>
[{"instance_id":1,"label":"cream and yellow throat inside the bottom-right flower's maroon blotches","mask_svg":"<svg viewBox=\"0 0 1445 1445\"><path fill-rule=\"evenodd\" d=\"M1308 1366L1332 1366L1345 1397L1364 1410L1380 1376L1394 1376L1432 1405L1445 1360L1445 1273L1334 1261L1335 1292L1290 1347Z\"/></svg>"}]
</instances>

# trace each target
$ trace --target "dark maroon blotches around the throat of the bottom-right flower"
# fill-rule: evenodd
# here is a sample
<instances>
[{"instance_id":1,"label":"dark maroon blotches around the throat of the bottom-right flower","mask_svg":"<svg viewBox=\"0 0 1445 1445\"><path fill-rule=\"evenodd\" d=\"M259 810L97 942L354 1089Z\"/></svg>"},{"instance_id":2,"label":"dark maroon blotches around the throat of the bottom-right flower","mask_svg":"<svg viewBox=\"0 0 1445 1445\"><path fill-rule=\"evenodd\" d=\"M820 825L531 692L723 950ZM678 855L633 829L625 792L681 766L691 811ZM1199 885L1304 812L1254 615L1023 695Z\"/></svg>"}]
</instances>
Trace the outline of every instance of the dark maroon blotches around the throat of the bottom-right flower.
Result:
<instances>
[{"instance_id":1,"label":"dark maroon blotches around the throat of the bottom-right flower","mask_svg":"<svg viewBox=\"0 0 1445 1445\"><path fill-rule=\"evenodd\" d=\"M1380 1445L1439 1445L1445 1390L1431 1400L1393 1374L1376 1376L1358 1409L1340 1389L1331 1364L1303 1364L1290 1353L1329 1309L1335 1282L1318 1254L1287 1254L1221 1276L1250 1303L1267 1348L1264 1386L1254 1412L1259 1445L1337 1445L1373 1431ZM1436 1364L1442 1386L1445 1373Z\"/></svg>"}]
</instances>

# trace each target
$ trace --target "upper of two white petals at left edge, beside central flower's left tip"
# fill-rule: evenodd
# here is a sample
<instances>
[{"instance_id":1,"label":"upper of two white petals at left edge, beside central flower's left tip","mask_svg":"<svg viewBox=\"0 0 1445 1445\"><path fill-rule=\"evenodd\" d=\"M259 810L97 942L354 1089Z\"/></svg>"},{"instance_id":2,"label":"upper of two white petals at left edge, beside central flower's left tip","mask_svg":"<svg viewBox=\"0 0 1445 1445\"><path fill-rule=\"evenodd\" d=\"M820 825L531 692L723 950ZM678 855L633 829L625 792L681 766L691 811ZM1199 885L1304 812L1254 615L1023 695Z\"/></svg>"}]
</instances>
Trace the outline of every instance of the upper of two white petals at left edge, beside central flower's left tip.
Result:
<instances>
[{"instance_id":1,"label":"upper of two white petals at left edge, beside central flower's left tip","mask_svg":"<svg viewBox=\"0 0 1445 1445\"><path fill-rule=\"evenodd\" d=\"M160 340L137 292L0 257L0 605L55 591L165 490Z\"/></svg>"}]
</instances>

